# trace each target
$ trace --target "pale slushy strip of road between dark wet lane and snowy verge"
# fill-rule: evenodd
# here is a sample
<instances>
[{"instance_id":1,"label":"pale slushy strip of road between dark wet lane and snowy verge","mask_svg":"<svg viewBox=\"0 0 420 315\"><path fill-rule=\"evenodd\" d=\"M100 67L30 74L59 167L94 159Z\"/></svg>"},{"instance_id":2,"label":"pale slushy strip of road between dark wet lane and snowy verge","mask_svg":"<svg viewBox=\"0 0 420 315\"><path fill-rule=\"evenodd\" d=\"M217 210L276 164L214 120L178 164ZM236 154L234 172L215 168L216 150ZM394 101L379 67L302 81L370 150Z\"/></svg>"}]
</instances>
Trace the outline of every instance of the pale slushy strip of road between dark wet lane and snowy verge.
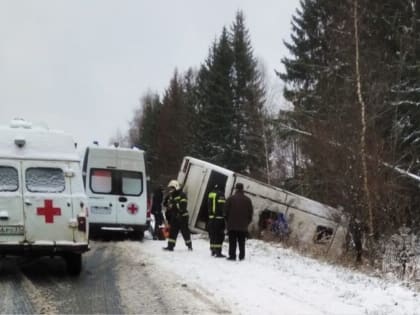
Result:
<instances>
[{"instance_id":1,"label":"pale slushy strip of road between dark wet lane and snowy verge","mask_svg":"<svg viewBox=\"0 0 420 315\"><path fill-rule=\"evenodd\" d=\"M156 264L141 244L121 242L113 251L120 258L118 286L126 313L235 314L204 288L192 286Z\"/></svg>"}]
</instances>

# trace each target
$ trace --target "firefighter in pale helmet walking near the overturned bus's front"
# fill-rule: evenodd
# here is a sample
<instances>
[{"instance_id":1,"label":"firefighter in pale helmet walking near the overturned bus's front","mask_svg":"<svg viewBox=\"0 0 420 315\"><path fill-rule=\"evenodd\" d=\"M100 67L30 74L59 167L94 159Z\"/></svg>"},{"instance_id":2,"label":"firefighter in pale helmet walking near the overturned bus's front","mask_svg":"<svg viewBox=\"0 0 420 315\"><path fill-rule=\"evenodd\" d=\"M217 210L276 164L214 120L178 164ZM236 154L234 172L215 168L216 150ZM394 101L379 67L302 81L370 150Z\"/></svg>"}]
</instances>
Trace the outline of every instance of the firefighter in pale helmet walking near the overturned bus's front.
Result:
<instances>
[{"instance_id":1,"label":"firefighter in pale helmet walking near the overturned bus's front","mask_svg":"<svg viewBox=\"0 0 420 315\"><path fill-rule=\"evenodd\" d=\"M168 184L169 195L165 200L167 212L170 213L170 225L168 246L164 250L173 251L179 230L181 230L185 245L192 250L191 234L188 228L187 195L181 190L177 180L171 180Z\"/></svg>"}]
</instances>

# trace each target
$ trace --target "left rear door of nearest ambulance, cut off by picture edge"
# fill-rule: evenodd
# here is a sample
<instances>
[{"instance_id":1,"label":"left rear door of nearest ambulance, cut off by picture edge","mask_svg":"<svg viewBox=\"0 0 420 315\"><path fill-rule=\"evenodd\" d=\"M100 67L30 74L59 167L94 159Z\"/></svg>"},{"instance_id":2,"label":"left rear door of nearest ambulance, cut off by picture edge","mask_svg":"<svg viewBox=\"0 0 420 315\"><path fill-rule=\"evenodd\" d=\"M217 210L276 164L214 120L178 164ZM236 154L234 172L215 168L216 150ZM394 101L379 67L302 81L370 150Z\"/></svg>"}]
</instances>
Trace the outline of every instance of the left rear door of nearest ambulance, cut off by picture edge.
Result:
<instances>
[{"instance_id":1,"label":"left rear door of nearest ambulance, cut off by picture edge","mask_svg":"<svg viewBox=\"0 0 420 315\"><path fill-rule=\"evenodd\" d=\"M20 164L0 159L0 244L25 238Z\"/></svg>"}]
</instances>

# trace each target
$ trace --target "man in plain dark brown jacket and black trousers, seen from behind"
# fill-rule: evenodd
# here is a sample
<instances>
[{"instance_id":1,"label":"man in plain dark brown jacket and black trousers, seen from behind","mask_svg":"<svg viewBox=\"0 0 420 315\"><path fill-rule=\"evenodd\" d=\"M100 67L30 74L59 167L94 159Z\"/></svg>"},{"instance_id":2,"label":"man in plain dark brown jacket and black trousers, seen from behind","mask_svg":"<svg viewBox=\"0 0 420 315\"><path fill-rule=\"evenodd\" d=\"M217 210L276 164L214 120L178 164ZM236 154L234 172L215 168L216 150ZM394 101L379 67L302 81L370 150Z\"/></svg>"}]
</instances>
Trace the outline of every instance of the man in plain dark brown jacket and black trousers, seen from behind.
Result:
<instances>
[{"instance_id":1,"label":"man in plain dark brown jacket and black trousers, seen from behind","mask_svg":"<svg viewBox=\"0 0 420 315\"><path fill-rule=\"evenodd\" d=\"M245 239L248 225L252 221L254 209L251 199L244 195L244 185L237 183L236 192L226 200L225 214L229 235L228 260L236 260L236 244L239 247L239 260L245 259Z\"/></svg>"}]
</instances>

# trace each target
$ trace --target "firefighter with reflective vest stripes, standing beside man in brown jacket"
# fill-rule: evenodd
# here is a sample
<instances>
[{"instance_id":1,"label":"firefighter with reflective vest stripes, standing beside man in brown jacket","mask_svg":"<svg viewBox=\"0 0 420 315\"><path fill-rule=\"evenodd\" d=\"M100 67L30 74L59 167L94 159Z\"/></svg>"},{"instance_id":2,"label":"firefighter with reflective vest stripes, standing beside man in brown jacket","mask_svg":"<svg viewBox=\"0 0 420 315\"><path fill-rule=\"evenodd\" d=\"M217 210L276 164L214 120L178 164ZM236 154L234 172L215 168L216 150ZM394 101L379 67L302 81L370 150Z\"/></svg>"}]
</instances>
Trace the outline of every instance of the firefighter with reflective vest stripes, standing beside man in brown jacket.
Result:
<instances>
[{"instance_id":1,"label":"firefighter with reflective vest stripes, standing beside man in brown jacket","mask_svg":"<svg viewBox=\"0 0 420 315\"><path fill-rule=\"evenodd\" d=\"M218 185L214 185L208 194L207 209L209 213L209 221L207 230L210 238L211 255L215 257L225 257L222 254L222 244L225 238L225 196Z\"/></svg>"}]
</instances>

